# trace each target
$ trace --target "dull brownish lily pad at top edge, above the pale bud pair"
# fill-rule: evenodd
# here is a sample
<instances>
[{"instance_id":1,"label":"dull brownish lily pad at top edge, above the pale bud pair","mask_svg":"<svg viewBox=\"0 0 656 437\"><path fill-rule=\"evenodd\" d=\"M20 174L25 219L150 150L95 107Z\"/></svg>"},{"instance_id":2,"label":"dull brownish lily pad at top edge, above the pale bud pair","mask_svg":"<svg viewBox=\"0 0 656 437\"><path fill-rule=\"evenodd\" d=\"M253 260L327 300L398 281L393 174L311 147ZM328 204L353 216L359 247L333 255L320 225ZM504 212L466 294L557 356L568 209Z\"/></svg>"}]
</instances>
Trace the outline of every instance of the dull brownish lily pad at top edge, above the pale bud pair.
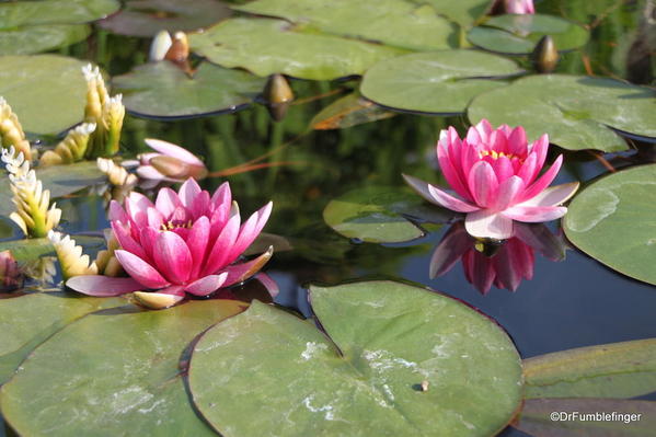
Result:
<instances>
[{"instance_id":1,"label":"dull brownish lily pad at top edge, above the pale bud pair","mask_svg":"<svg viewBox=\"0 0 656 437\"><path fill-rule=\"evenodd\" d=\"M161 30L207 27L230 14L230 9L217 0L128 0L120 12L99 25L120 35L153 36Z\"/></svg>"}]
</instances>

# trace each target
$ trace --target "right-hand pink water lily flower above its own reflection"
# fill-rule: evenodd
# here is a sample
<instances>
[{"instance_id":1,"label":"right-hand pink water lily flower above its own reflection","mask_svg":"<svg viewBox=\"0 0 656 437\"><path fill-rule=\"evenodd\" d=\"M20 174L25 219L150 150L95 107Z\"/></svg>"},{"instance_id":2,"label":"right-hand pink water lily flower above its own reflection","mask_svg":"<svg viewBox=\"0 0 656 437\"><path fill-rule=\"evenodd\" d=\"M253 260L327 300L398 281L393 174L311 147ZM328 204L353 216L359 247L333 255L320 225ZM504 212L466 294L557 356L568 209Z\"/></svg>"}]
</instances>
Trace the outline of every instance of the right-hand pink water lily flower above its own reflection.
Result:
<instances>
[{"instance_id":1,"label":"right-hand pink water lily flower above its own reflection","mask_svg":"<svg viewBox=\"0 0 656 437\"><path fill-rule=\"evenodd\" d=\"M513 221L540 222L561 218L578 183L549 187L563 163L559 156L541 176L549 137L529 143L525 129L502 125L493 129L486 119L460 139L453 127L442 130L437 159L453 192L416 177L405 181L428 202L467 214L465 229L476 238L513 237Z\"/></svg>"}]
</instances>

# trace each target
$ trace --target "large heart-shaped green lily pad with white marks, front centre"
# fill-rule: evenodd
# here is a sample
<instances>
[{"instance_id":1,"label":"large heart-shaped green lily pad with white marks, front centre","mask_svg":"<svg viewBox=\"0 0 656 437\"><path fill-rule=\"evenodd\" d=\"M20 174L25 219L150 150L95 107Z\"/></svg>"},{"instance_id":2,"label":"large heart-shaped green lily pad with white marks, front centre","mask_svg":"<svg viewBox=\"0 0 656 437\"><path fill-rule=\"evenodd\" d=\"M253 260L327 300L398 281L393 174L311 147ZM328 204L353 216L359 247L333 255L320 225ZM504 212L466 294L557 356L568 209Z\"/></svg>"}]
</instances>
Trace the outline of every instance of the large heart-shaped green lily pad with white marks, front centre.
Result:
<instances>
[{"instance_id":1,"label":"large heart-shaped green lily pad with white marks, front centre","mask_svg":"<svg viewBox=\"0 0 656 437\"><path fill-rule=\"evenodd\" d=\"M310 296L325 333L254 301L196 344L189 389L221 435L490 436L516 414L519 356L477 311L392 281Z\"/></svg>"}]
</instances>

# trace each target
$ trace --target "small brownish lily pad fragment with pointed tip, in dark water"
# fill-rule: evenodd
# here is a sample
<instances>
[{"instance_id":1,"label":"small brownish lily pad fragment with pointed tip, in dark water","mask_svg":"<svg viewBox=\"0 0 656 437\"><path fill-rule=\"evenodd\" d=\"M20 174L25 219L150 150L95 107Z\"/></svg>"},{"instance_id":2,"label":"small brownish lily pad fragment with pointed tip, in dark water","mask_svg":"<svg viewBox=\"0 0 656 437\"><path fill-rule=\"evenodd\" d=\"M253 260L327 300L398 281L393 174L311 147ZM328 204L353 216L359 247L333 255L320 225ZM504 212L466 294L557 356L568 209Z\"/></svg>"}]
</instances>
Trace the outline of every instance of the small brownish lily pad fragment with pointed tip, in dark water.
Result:
<instances>
[{"instance_id":1,"label":"small brownish lily pad fragment with pointed tip, in dark water","mask_svg":"<svg viewBox=\"0 0 656 437\"><path fill-rule=\"evenodd\" d=\"M353 92L337 99L317 114L310 122L312 129L345 129L364 123L393 117L395 113L387 111L376 103L364 99L359 92Z\"/></svg>"}]
</instances>

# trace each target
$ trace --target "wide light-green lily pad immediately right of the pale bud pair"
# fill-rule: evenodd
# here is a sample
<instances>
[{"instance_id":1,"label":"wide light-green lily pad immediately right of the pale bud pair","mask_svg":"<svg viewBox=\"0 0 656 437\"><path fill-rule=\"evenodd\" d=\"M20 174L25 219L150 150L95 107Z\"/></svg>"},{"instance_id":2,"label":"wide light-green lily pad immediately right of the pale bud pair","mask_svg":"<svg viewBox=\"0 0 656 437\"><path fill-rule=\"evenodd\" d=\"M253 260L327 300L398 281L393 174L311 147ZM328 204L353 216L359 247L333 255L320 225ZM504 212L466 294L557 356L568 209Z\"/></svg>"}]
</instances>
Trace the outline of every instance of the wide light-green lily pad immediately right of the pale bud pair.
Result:
<instances>
[{"instance_id":1,"label":"wide light-green lily pad immediately right of the pale bud pair","mask_svg":"<svg viewBox=\"0 0 656 437\"><path fill-rule=\"evenodd\" d=\"M285 73L330 80L361 74L380 59L403 50L319 34L283 20L231 19L189 36L192 49L223 67L245 68L257 76Z\"/></svg>"}]
</instances>

